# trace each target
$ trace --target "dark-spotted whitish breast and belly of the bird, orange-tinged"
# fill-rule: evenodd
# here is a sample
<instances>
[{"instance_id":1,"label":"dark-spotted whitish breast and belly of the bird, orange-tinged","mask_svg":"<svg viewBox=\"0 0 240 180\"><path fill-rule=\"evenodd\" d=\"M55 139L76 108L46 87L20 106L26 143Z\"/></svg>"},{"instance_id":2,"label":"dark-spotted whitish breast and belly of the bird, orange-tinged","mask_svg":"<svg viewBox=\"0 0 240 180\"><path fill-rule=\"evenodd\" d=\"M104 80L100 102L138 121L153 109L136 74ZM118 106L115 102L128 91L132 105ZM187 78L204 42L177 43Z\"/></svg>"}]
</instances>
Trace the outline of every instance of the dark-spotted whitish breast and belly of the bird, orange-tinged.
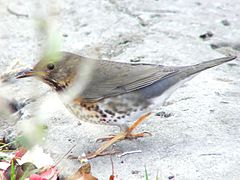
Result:
<instances>
[{"instance_id":1,"label":"dark-spotted whitish breast and belly of the bird, orange-tinged","mask_svg":"<svg viewBox=\"0 0 240 180\"><path fill-rule=\"evenodd\" d=\"M149 103L134 94L108 97L98 102L82 101L80 98L65 104L76 117L86 122L121 126L132 123L147 112Z\"/></svg>"}]
</instances>

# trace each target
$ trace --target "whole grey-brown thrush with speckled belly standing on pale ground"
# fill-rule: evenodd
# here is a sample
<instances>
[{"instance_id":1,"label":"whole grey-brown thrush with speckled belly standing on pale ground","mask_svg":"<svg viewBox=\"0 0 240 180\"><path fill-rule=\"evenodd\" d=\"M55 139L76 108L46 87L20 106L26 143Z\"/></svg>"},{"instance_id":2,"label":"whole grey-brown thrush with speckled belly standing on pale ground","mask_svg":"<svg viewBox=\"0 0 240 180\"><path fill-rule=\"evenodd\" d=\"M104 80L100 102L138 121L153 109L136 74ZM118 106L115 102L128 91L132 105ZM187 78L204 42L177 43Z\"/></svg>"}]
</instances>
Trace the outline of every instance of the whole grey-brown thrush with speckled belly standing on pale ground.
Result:
<instances>
[{"instance_id":1,"label":"whole grey-brown thrush with speckled belly standing on pale ground","mask_svg":"<svg viewBox=\"0 0 240 180\"><path fill-rule=\"evenodd\" d=\"M132 131L151 110L162 105L179 86L196 74L235 58L229 56L176 67L96 60L58 52L44 56L33 69L19 72L16 77L36 76L59 95L75 89L72 91L74 95L67 94L72 96L70 100L60 99L76 117L120 127L119 134L88 154L88 158L93 158L108 154L107 148L117 141L143 137L145 133L133 134ZM91 68L86 71L86 67Z\"/></svg>"}]
</instances>

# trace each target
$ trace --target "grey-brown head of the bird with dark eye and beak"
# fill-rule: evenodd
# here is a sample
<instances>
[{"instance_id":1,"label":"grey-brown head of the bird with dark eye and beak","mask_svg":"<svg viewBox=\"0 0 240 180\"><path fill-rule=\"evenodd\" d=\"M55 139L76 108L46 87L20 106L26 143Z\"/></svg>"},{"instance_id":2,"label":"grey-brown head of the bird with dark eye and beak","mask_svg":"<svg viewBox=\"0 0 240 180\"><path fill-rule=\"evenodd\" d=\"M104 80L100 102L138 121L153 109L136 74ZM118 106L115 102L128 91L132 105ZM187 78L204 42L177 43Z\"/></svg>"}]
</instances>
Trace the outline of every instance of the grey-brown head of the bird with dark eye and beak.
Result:
<instances>
[{"instance_id":1,"label":"grey-brown head of the bird with dark eye and beak","mask_svg":"<svg viewBox=\"0 0 240 180\"><path fill-rule=\"evenodd\" d=\"M63 91L76 77L79 57L66 52L54 53L42 58L33 69L17 73L16 78L36 76L56 91Z\"/></svg>"}]
</instances>

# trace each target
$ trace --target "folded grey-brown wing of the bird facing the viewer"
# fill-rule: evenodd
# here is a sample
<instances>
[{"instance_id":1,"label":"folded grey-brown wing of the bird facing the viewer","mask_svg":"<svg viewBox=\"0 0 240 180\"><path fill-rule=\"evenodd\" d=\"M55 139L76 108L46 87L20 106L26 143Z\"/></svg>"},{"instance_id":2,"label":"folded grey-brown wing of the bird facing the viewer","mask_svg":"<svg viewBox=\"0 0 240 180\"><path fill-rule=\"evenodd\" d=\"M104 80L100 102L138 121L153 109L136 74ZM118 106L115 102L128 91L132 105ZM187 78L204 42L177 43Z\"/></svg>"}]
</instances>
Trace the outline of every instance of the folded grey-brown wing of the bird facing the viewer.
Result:
<instances>
[{"instance_id":1,"label":"folded grey-brown wing of the bird facing the viewer","mask_svg":"<svg viewBox=\"0 0 240 180\"><path fill-rule=\"evenodd\" d=\"M97 61L91 81L81 97L86 101L96 101L117 96L149 86L175 72L177 68L152 64Z\"/></svg>"}]
</instances>

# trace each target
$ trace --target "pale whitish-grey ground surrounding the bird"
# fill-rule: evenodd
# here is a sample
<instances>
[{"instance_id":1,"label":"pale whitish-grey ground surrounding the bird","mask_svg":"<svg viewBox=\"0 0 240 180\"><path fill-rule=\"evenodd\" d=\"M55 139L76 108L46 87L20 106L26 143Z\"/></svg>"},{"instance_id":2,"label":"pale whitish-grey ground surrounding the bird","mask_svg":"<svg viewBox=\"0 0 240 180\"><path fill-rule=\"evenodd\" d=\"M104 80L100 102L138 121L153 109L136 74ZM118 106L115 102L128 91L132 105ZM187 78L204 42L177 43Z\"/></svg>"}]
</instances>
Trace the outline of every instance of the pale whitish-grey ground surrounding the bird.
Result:
<instances>
[{"instance_id":1,"label":"pale whitish-grey ground surrounding the bird","mask_svg":"<svg viewBox=\"0 0 240 180\"><path fill-rule=\"evenodd\" d=\"M50 14L51 24L62 35L61 49L122 62L190 65L224 56L211 44L238 47L240 38L238 0L66 0L43 4L36 8L30 0L0 0L1 73L16 67L16 62L19 67L37 62L44 42L35 31L38 11ZM28 17L17 17L11 10ZM212 37L199 37L208 31ZM122 158L113 156L120 179L144 179L144 166L149 179L155 179L157 173L160 179L239 179L239 71L236 60L201 73L155 110L169 117L152 115L138 128L139 132L151 132L151 137L117 143L123 152L142 150ZM33 120L41 113L48 126L43 147L55 160L74 144L73 155L93 151L100 145L95 143L97 138L118 132L114 127L80 124L54 92L33 78L12 79L2 84L0 91L19 101L41 96L22 109L21 121ZM91 164L99 179L111 174L108 156L93 159ZM72 174L79 166L77 160L64 159L59 169Z\"/></svg>"}]
</instances>

